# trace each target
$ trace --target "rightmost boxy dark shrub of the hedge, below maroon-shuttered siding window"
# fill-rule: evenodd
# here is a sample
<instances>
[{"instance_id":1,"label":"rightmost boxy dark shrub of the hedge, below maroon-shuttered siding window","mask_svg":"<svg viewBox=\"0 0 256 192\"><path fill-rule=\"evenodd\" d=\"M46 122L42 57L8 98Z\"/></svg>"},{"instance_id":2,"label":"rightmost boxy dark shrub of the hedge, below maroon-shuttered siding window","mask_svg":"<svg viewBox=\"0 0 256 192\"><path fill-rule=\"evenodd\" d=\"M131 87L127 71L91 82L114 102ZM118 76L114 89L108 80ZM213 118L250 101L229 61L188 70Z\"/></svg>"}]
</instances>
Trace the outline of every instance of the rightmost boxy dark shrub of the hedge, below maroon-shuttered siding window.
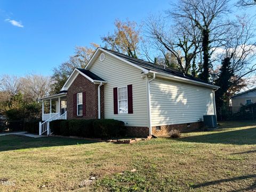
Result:
<instances>
[{"instance_id":1,"label":"rightmost boxy dark shrub of the hedge, below maroon-shuttered siding window","mask_svg":"<svg viewBox=\"0 0 256 192\"><path fill-rule=\"evenodd\" d=\"M97 138L124 136L124 122L115 119L99 119L93 122L93 130Z\"/></svg>"}]
</instances>

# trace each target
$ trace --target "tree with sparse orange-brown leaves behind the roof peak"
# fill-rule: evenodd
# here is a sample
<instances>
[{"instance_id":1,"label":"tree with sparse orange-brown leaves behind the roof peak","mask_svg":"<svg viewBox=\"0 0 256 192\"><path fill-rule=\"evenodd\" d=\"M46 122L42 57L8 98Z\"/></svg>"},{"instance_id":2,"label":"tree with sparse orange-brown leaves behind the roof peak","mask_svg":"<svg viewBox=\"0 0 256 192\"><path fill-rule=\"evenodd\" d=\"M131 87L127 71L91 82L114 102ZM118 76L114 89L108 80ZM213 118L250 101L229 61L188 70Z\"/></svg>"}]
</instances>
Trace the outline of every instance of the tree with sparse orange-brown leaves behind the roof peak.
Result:
<instances>
[{"instance_id":1,"label":"tree with sparse orange-brown leaves behind the roof peak","mask_svg":"<svg viewBox=\"0 0 256 192\"><path fill-rule=\"evenodd\" d=\"M108 33L101 39L107 48L137 58L142 40L140 33L140 26L136 22L116 20L114 34Z\"/></svg>"}]
</instances>

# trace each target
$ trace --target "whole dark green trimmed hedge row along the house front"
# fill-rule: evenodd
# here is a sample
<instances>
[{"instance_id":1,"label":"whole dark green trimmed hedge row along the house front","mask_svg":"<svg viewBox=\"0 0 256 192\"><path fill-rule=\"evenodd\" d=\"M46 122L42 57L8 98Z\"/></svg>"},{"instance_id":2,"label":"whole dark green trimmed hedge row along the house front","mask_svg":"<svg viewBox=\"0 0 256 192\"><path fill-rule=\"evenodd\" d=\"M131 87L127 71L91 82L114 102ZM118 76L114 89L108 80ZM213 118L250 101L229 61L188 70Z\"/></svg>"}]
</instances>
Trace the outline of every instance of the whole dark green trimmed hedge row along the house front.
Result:
<instances>
[{"instance_id":1,"label":"whole dark green trimmed hedge row along the house front","mask_svg":"<svg viewBox=\"0 0 256 192\"><path fill-rule=\"evenodd\" d=\"M72 119L50 122L51 131L56 135L87 138L111 138L125 135L124 122L115 119Z\"/></svg>"}]
</instances>

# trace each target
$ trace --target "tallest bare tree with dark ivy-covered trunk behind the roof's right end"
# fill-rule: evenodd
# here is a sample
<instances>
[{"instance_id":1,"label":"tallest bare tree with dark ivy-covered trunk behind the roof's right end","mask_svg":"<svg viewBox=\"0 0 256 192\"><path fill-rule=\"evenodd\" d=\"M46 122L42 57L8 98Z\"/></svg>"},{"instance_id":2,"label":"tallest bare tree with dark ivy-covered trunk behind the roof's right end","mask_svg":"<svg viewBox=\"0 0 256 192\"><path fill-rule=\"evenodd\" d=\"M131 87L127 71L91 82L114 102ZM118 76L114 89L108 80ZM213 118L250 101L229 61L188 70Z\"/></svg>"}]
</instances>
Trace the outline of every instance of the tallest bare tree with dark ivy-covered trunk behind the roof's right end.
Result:
<instances>
[{"instance_id":1,"label":"tallest bare tree with dark ivy-covered trunk behind the roof's right end","mask_svg":"<svg viewBox=\"0 0 256 192\"><path fill-rule=\"evenodd\" d=\"M220 42L226 31L223 27L223 15L229 12L227 0L180 0L173 9L167 11L174 18L183 18L186 25L192 25L201 31L203 51L203 71L201 78L209 81L210 50L213 43Z\"/></svg>"}]
</instances>

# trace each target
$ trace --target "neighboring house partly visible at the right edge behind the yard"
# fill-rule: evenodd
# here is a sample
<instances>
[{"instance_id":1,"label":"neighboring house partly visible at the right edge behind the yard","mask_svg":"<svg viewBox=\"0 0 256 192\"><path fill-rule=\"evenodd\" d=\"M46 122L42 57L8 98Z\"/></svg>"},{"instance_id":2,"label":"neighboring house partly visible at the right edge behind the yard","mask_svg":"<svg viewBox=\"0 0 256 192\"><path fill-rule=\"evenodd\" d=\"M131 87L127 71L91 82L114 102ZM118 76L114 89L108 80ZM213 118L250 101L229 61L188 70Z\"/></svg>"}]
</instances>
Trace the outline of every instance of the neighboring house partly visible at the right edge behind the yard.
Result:
<instances>
[{"instance_id":1,"label":"neighboring house partly visible at the right edge behind the yard","mask_svg":"<svg viewBox=\"0 0 256 192\"><path fill-rule=\"evenodd\" d=\"M241 106L256 103L256 87L254 89L235 94L231 97L232 111L236 113Z\"/></svg>"}]
</instances>

